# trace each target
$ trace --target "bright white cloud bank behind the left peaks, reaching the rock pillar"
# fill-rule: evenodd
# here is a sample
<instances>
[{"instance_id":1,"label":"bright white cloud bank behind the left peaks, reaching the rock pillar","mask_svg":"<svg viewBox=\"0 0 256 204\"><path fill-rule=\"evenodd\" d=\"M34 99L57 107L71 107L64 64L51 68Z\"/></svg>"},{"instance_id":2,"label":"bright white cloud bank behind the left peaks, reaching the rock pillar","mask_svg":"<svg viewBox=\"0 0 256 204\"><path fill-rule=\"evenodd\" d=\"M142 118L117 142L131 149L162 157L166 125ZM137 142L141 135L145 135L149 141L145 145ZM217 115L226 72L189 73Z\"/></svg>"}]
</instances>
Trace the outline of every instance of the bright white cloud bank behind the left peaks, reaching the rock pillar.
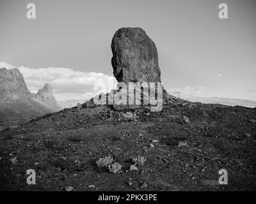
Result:
<instances>
[{"instance_id":1,"label":"bright white cloud bank behind the left peaks, reaching the rock pillar","mask_svg":"<svg viewBox=\"0 0 256 204\"><path fill-rule=\"evenodd\" d=\"M7 69L17 68L24 76L24 80L29 91L37 92L38 89L44 87L44 84L52 84L54 96L57 100L68 99L90 99L95 94L102 92L95 90L94 87L116 83L114 77L104 75L103 73L75 71L71 68L29 68L26 66L13 66L6 62L0 62L0 68ZM112 87L108 87L110 91Z\"/></svg>"}]
</instances>

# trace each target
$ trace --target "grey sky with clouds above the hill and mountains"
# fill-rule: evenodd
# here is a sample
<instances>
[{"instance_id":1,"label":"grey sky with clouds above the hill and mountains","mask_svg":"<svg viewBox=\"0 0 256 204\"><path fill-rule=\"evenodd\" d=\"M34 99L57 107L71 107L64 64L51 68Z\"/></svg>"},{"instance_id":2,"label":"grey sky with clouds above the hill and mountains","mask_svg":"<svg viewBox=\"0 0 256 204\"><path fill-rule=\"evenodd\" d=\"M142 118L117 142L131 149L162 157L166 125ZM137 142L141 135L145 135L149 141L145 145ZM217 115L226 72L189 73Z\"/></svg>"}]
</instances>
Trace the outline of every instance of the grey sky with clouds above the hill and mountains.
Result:
<instances>
[{"instance_id":1,"label":"grey sky with clouds above the hill and mountains","mask_svg":"<svg viewBox=\"0 0 256 204\"><path fill-rule=\"evenodd\" d=\"M31 92L50 83L58 100L90 98L95 83L113 80L116 30L141 27L166 90L256 100L255 20L253 0L1 0L0 68L19 67Z\"/></svg>"}]
</instances>

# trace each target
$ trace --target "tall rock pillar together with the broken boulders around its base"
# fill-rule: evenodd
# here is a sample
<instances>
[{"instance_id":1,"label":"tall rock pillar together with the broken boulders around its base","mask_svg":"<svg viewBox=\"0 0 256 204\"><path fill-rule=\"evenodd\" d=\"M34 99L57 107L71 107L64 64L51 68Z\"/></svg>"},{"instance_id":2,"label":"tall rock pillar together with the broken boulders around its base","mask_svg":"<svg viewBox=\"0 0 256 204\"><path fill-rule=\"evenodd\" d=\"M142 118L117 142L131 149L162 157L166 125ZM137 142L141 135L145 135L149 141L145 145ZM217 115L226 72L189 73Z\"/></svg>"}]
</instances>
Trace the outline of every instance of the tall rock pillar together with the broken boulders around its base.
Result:
<instances>
[{"instance_id":1,"label":"tall rock pillar together with the broken boulders around its base","mask_svg":"<svg viewBox=\"0 0 256 204\"><path fill-rule=\"evenodd\" d=\"M118 29L113 36L111 49L113 73L116 80L123 83L118 84L118 90L99 94L95 96L95 100L90 99L84 103L83 107L107 104L113 106L115 110L124 110L150 105L154 106L150 108L151 111L160 111L163 99L166 101L175 99L163 89L156 45L143 29L139 27ZM131 89L129 82L134 82ZM112 100L114 102L111 102Z\"/></svg>"}]
</instances>

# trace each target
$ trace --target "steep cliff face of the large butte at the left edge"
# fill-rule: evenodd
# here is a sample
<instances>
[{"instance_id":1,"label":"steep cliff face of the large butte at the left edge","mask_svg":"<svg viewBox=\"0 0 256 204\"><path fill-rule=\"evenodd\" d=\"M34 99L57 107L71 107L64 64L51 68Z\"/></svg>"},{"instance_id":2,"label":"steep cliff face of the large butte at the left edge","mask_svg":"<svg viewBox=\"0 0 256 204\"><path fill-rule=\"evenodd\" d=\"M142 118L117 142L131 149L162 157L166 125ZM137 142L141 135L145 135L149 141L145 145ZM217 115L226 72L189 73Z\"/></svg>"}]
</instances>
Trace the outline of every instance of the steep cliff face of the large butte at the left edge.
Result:
<instances>
[{"instance_id":1,"label":"steep cliff face of the large butte at the left edge","mask_svg":"<svg viewBox=\"0 0 256 204\"><path fill-rule=\"evenodd\" d=\"M18 69L0 69L0 101L28 99L30 92Z\"/></svg>"}]
</instances>

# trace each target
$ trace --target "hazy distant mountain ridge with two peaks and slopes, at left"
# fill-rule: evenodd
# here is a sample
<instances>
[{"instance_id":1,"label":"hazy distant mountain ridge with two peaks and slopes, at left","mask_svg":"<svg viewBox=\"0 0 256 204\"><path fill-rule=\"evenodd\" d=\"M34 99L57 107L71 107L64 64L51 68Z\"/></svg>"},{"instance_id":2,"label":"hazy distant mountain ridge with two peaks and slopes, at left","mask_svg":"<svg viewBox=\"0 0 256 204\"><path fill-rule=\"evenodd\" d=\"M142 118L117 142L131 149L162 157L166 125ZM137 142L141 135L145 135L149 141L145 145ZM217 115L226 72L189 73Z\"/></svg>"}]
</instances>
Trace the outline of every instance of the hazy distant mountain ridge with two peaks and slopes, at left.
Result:
<instances>
[{"instance_id":1,"label":"hazy distant mountain ridge with two peaks and slopes, at left","mask_svg":"<svg viewBox=\"0 0 256 204\"><path fill-rule=\"evenodd\" d=\"M0 69L0 131L59 110L50 84L34 94L18 69Z\"/></svg>"}]
</instances>

